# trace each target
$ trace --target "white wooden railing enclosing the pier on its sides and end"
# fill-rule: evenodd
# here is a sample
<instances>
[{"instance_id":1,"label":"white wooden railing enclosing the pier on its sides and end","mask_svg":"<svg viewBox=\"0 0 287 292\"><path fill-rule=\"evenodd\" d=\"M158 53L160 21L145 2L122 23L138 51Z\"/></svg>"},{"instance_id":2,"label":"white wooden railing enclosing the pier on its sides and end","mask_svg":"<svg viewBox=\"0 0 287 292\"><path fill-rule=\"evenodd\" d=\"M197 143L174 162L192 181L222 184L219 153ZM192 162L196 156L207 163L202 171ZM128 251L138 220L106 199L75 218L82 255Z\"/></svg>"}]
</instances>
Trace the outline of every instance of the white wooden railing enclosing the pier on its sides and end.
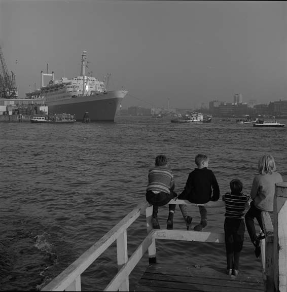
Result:
<instances>
[{"instance_id":1,"label":"white wooden railing enclosing the pier on its sides and end","mask_svg":"<svg viewBox=\"0 0 287 292\"><path fill-rule=\"evenodd\" d=\"M264 234L261 241L261 259L264 270L265 291L286 292L287 275L287 183L276 185L274 197L274 232L271 218L262 212ZM190 204L184 200L171 200L172 204ZM224 202L208 202L206 206L221 207ZM146 211L147 237L128 259L127 228ZM185 240L224 243L224 233L196 232L185 230L152 229L152 206L139 204L114 228L83 253L74 263L46 285L43 291L81 291L81 274L115 241L117 241L118 273L106 286L105 291L128 291L129 275L148 251L149 262L156 262L156 239ZM249 240L248 235L245 239Z\"/></svg>"}]
</instances>

